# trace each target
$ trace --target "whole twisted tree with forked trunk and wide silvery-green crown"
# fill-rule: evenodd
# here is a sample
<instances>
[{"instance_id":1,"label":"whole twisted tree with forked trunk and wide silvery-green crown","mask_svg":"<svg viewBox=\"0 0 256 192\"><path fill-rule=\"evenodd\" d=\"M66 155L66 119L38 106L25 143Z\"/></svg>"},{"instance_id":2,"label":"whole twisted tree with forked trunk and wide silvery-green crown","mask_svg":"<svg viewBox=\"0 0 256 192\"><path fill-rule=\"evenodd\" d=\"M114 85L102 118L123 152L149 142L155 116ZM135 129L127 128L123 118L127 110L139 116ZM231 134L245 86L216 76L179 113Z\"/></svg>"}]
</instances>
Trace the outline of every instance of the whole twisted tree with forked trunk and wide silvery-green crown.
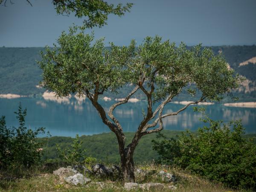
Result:
<instances>
[{"instance_id":1,"label":"whole twisted tree with forked trunk and wide silvery-green crown","mask_svg":"<svg viewBox=\"0 0 256 192\"><path fill-rule=\"evenodd\" d=\"M134 181L133 154L141 137L161 131L163 118L177 115L189 105L222 99L224 93L230 94L242 80L228 69L221 55L214 56L211 49L202 49L201 45L188 50L183 43L175 47L174 43L162 42L155 36L146 37L138 48L132 40L128 47L111 43L107 50L103 38L92 43L93 38L77 26L70 27L68 34L62 32L58 47L46 47L45 53L41 52L42 61L38 64L43 70L42 84L58 97L76 93L90 99L102 122L116 135L122 174L128 182ZM125 85L131 87L131 92L113 104L107 116L99 104L99 95L107 91L118 93ZM127 103L138 90L145 95L147 111L133 140L126 145L122 125L113 111ZM192 96L200 90L201 97L176 112L163 113L165 105L182 90Z\"/></svg>"}]
</instances>

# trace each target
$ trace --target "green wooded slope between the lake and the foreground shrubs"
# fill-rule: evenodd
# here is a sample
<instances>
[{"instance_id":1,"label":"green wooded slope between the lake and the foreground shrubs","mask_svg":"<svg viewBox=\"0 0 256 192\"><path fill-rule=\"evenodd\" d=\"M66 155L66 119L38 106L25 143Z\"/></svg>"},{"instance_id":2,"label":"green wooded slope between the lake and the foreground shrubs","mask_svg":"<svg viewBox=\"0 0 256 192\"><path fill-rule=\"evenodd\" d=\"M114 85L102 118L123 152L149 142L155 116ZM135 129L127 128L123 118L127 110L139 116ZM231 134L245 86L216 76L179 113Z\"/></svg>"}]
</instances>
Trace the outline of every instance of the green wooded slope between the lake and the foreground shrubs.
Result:
<instances>
[{"instance_id":1,"label":"green wooded slope between the lake and the foreground shrubs","mask_svg":"<svg viewBox=\"0 0 256 192\"><path fill-rule=\"evenodd\" d=\"M180 135L181 131L161 131L167 139L176 138L176 135ZM196 132L195 132L196 133ZM149 134L145 137L142 137L140 143L138 144L135 153L134 161L137 163L150 162L152 160L157 160L158 154L152 149L153 143L152 140L156 139L157 134ZM134 133L127 132L126 144L131 142ZM51 137L48 142L44 145L44 158L56 160L57 158L57 149L56 144L58 144L62 149L70 147L72 141L74 140L75 135L72 137ZM244 137L256 137L256 134L246 134ZM42 140L40 138L39 140ZM87 156L96 157L97 160L102 160L108 163L119 163L120 157L118 153L118 144L115 134L111 133L102 133L95 134L91 136L81 136L82 148L86 150Z\"/></svg>"}]
</instances>

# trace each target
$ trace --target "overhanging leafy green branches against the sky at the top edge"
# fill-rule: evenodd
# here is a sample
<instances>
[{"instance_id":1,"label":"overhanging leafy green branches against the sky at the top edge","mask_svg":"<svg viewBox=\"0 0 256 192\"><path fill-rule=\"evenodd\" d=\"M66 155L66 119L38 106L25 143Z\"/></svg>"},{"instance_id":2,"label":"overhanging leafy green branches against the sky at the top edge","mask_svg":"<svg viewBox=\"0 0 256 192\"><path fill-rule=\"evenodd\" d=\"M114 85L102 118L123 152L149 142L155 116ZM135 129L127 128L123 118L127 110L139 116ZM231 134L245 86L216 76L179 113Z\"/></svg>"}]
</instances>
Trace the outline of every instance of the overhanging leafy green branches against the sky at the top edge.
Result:
<instances>
[{"instance_id":1,"label":"overhanging leafy green branches against the sky at the top edge","mask_svg":"<svg viewBox=\"0 0 256 192\"><path fill-rule=\"evenodd\" d=\"M31 0L26 0L32 6ZM0 5L6 6L7 0L0 0ZM10 0L10 4L14 4ZM70 15L75 13L76 17L87 17L84 19L84 27L92 28L94 26L102 27L107 24L108 15L114 14L121 17L125 12L130 12L133 3L109 4L103 0L52 0L52 4L57 14Z\"/></svg>"}]
</instances>

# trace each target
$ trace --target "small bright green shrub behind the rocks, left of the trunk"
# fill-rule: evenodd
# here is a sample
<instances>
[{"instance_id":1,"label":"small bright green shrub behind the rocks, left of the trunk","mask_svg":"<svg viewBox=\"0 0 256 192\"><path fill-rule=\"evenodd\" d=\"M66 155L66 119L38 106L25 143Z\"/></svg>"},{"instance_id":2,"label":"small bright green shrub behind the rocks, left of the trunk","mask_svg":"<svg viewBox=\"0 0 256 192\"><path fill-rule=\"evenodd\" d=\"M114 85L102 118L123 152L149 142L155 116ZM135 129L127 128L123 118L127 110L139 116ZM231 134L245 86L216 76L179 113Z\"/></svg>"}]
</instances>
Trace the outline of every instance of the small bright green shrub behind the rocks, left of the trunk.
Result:
<instances>
[{"instance_id":1,"label":"small bright green shrub behind the rocks, left of the trunk","mask_svg":"<svg viewBox=\"0 0 256 192\"><path fill-rule=\"evenodd\" d=\"M58 157L63 162L67 162L70 165L79 165L83 164L86 161L93 161L92 157L88 158L85 156L85 149L81 149L82 142L79 141L78 135L76 135L76 138L73 140L71 144L71 148L64 148L64 150L61 150L61 147L57 145L57 151L58 151Z\"/></svg>"}]
</instances>

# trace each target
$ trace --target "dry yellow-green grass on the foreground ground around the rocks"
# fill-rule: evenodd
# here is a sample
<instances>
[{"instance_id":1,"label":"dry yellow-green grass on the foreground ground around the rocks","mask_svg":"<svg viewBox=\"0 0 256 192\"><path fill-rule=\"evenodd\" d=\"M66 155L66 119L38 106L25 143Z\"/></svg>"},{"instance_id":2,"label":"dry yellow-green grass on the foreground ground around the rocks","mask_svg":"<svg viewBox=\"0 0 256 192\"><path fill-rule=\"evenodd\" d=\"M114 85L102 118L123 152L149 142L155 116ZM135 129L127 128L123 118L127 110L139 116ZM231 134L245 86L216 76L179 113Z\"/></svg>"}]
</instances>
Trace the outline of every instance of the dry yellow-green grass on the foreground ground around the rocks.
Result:
<instances>
[{"instance_id":1,"label":"dry yellow-green grass on the foreground ground around the rocks","mask_svg":"<svg viewBox=\"0 0 256 192\"><path fill-rule=\"evenodd\" d=\"M109 165L110 166L110 165ZM166 188L163 192L170 192L168 186L174 185L177 187L175 192L247 192L246 190L234 190L223 186L221 183L213 183L209 180L205 180L201 177L191 175L177 168L162 167L160 165L143 164L138 165L137 168L144 170L166 170L167 172L176 175L177 182L175 183L163 183L160 177L157 175L149 175L143 179L137 180L137 183L163 183ZM55 169L55 168L54 168ZM99 179L90 176L92 180L90 184L85 186L73 186L66 183L63 179L52 174L52 170L40 171L34 169L31 171L31 175L16 179L2 179L0 180L0 191L6 192L125 192L122 181L113 181L110 179ZM1 177L5 173L1 172ZM103 187L99 187L99 184L94 182L104 182ZM132 192L139 192L140 189L132 190ZM248 191L249 192L249 191Z\"/></svg>"}]
</instances>

